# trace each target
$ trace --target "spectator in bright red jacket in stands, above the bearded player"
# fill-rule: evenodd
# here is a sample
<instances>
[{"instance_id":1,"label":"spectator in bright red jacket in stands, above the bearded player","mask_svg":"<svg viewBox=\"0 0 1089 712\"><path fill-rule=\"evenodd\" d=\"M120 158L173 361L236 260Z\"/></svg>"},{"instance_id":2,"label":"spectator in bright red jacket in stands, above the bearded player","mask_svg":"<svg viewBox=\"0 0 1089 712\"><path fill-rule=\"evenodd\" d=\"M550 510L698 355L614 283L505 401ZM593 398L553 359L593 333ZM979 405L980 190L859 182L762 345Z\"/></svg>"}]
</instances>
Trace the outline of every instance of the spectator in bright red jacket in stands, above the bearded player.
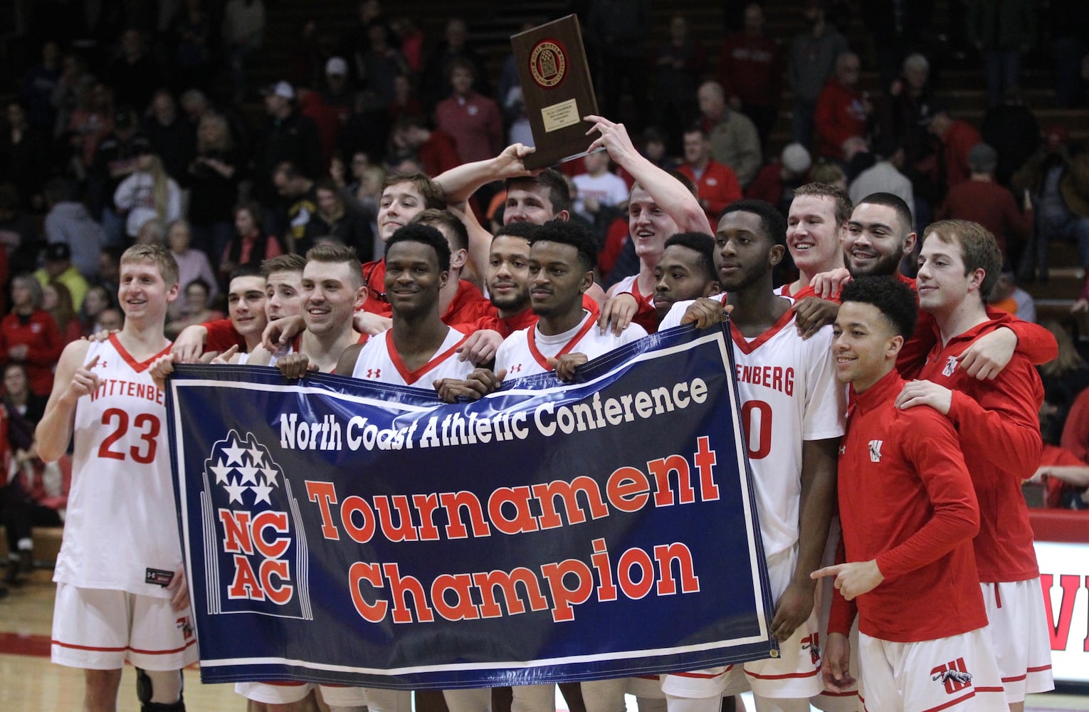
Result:
<instances>
[{"instance_id":1,"label":"spectator in bright red jacket in stands, above the bearded player","mask_svg":"<svg viewBox=\"0 0 1089 712\"><path fill-rule=\"evenodd\" d=\"M869 95L858 89L860 70L858 54L840 54L835 59L835 75L817 97L813 121L821 156L846 160L844 144L851 138L866 138L867 121L873 113L873 105Z\"/></svg>"}]
</instances>

